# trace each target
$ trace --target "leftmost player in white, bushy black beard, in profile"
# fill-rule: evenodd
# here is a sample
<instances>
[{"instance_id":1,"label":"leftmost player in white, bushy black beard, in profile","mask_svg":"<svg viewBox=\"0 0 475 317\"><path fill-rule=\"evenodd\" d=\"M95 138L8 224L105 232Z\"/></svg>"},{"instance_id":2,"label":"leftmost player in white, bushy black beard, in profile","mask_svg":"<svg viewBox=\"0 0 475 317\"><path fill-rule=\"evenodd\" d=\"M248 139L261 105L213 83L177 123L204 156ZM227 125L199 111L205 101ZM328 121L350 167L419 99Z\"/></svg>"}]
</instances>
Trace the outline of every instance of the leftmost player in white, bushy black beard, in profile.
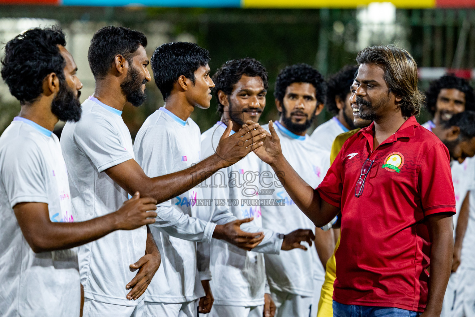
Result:
<instances>
[{"instance_id":1,"label":"leftmost player in white, bushy black beard, in profile","mask_svg":"<svg viewBox=\"0 0 475 317\"><path fill-rule=\"evenodd\" d=\"M77 317L76 248L116 230L153 223L152 198L84 222L71 205L58 120L77 122L81 81L57 27L29 29L5 47L1 75L21 104L0 137L0 315ZM82 210L76 210L82 211Z\"/></svg>"}]
</instances>

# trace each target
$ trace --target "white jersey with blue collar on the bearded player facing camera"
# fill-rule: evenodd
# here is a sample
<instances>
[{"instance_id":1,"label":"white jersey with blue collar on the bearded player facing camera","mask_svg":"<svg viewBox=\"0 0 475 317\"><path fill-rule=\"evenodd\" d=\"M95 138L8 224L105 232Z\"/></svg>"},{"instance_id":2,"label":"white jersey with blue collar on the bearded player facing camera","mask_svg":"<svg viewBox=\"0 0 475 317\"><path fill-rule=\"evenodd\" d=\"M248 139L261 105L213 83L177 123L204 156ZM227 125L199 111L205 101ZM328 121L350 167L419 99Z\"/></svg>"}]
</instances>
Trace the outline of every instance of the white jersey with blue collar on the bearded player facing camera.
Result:
<instances>
[{"instance_id":1,"label":"white jersey with blue collar on the bearded player facing camera","mask_svg":"<svg viewBox=\"0 0 475 317\"><path fill-rule=\"evenodd\" d=\"M263 128L269 131L268 125ZM308 135L297 135L275 121L274 128L279 135L282 153L295 171L313 188L325 177L330 165L330 152L316 146ZM263 171L274 174L272 167L263 164ZM290 232L296 229L315 230L313 222L297 207L285 192L280 182L269 183L272 198L285 199L285 206L263 206L264 228ZM318 229L320 230L320 229ZM281 292L300 296L314 295L313 278L323 281L325 269L314 246L307 251L300 249L281 252L279 255L266 254L266 273L269 286Z\"/></svg>"}]
</instances>

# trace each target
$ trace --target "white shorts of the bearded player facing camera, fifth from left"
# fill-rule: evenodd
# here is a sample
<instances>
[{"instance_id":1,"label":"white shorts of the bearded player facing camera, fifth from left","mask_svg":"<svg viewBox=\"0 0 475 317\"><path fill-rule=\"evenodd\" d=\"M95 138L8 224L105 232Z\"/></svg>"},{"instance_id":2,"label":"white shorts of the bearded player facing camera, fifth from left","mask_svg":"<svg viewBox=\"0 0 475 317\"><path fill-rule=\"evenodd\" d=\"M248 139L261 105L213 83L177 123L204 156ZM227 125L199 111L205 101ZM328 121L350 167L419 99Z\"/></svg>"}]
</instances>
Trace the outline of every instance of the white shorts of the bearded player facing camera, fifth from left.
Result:
<instances>
[{"instance_id":1,"label":"white shorts of the bearded player facing camera, fifth from left","mask_svg":"<svg viewBox=\"0 0 475 317\"><path fill-rule=\"evenodd\" d=\"M280 292L270 288L272 299L276 304L275 317L308 317L312 307L313 297L300 296L286 292ZM317 305L318 307L318 305ZM316 313L315 313L316 316Z\"/></svg>"}]
</instances>

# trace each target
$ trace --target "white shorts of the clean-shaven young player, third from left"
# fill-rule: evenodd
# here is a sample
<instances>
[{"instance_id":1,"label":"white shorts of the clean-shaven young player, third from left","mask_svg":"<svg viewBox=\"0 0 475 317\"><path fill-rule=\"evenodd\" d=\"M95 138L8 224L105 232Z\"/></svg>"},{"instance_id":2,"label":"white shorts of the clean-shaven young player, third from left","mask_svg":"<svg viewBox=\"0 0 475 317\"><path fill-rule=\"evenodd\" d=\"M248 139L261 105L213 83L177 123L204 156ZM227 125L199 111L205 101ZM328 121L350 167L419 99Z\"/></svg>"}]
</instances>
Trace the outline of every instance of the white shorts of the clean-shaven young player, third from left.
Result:
<instances>
[{"instance_id":1,"label":"white shorts of the clean-shaven young player, third from left","mask_svg":"<svg viewBox=\"0 0 475 317\"><path fill-rule=\"evenodd\" d=\"M184 303L145 302L139 317L198 317L198 299Z\"/></svg>"}]
</instances>

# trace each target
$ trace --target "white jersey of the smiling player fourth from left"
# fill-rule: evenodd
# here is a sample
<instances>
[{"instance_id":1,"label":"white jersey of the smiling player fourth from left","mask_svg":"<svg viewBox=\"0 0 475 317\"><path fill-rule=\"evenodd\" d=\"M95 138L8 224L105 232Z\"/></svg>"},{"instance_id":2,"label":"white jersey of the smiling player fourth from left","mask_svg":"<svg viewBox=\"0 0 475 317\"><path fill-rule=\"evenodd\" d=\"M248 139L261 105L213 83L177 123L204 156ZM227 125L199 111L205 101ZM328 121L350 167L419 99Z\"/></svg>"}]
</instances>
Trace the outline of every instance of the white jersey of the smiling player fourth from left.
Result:
<instances>
[{"instance_id":1,"label":"white jersey of the smiling player fourth from left","mask_svg":"<svg viewBox=\"0 0 475 317\"><path fill-rule=\"evenodd\" d=\"M201 135L202 156L214 154L226 125L218 122ZM231 132L233 134L234 132ZM226 306L258 306L264 304L266 271L262 252L278 254L283 234L263 230L260 190L260 159L248 154L237 163L219 170L201 183L203 197L211 206L199 207L200 217L224 224L236 219L254 217L241 225L243 231L264 231L264 240L253 251L246 251L221 240L211 240L210 269L213 279L214 304Z\"/></svg>"}]
</instances>

